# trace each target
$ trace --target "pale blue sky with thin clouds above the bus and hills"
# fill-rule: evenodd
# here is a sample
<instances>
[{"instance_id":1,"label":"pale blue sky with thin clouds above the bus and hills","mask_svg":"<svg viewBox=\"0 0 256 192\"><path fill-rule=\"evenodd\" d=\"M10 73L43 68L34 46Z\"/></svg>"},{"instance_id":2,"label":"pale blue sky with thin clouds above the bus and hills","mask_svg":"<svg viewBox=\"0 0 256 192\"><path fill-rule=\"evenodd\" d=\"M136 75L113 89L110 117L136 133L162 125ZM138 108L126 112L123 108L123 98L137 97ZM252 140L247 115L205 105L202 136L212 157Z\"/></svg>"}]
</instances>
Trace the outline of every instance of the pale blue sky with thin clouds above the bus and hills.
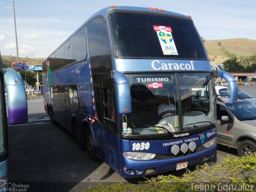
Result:
<instances>
[{"instance_id":1,"label":"pale blue sky with thin clouds above the bus and hills","mask_svg":"<svg viewBox=\"0 0 256 192\"><path fill-rule=\"evenodd\" d=\"M206 40L256 40L256 0L14 0L19 56L46 58L92 14L111 5L190 15ZM0 0L0 51L16 56L12 0Z\"/></svg>"}]
</instances>

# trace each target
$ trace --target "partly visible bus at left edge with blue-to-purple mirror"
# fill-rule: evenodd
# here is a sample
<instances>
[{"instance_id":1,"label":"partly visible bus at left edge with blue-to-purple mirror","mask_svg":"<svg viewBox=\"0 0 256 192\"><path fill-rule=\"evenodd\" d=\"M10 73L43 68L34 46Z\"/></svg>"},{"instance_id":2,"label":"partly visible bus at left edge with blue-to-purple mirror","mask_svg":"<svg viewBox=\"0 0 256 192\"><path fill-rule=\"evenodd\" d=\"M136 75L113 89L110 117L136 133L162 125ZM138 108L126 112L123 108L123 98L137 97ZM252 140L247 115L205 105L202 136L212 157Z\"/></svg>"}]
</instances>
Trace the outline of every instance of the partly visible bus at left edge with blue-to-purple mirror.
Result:
<instances>
[{"instance_id":1,"label":"partly visible bus at left edge with blue-to-purple mirror","mask_svg":"<svg viewBox=\"0 0 256 192\"><path fill-rule=\"evenodd\" d=\"M8 131L4 83L8 97L8 120L10 125L28 122L28 107L24 82L20 74L7 68L2 70L0 53L0 192L5 191L8 182Z\"/></svg>"}]
</instances>

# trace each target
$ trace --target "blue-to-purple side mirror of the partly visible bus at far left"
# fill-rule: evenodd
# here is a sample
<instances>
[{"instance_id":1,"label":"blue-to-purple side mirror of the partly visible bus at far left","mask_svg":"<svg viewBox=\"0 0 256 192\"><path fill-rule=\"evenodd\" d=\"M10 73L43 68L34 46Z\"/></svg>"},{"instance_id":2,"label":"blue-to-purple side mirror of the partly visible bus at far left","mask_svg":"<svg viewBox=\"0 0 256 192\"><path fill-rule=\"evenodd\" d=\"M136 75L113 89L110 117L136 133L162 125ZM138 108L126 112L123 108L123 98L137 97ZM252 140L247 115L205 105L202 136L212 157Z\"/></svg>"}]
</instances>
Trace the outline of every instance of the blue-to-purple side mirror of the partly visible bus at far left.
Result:
<instances>
[{"instance_id":1,"label":"blue-to-purple side mirror of the partly visible bus at far left","mask_svg":"<svg viewBox=\"0 0 256 192\"><path fill-rule=\"evenodd\" d=\"M4 82L7 92L9 124L28 122L28 104L22 77L15 70L7 68Z\"/></svg>"}]
</instances>

